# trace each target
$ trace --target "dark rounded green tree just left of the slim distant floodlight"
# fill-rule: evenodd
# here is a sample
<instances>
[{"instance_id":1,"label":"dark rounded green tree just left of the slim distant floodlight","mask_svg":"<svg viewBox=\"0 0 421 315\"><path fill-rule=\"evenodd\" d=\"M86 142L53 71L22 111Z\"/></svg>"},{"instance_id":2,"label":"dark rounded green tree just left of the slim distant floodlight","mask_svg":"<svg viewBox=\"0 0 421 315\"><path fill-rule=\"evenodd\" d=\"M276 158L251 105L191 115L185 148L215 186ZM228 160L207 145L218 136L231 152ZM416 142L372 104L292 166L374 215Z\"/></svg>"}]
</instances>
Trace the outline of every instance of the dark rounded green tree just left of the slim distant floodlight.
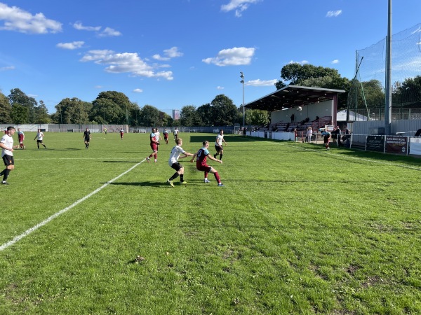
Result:
<instances>
[{"instance_id":1,"label":"dark rounded green tree just left of the slim distant floodlight","mask_svg":"<svg viewBox=\"0 0 421 315\"><path fill-rule=\"evenodd\" d=\"M224 94L220 94L210 104L212 105L213 125L234 125L234 121L237 118L237 109L232 99L229 99Z\"/></svg>"}]
</instances>

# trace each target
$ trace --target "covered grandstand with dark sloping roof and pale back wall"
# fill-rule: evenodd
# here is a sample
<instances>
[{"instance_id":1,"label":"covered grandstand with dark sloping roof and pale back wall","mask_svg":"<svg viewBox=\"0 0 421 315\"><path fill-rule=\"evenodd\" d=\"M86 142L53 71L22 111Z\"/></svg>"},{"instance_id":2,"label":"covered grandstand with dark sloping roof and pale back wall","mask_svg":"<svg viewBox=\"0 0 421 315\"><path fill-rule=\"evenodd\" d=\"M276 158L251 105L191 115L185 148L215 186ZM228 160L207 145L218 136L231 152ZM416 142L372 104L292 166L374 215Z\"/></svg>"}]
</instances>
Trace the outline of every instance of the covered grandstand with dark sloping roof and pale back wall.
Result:
<instances>
[{"instance_id":1,"label":"covered grandstand with dark sloping roof and pale back wall","mask_svg":"<svg viewBox=\"0 0 421 315\"><path fill-rule=\"evenodd\" d=\"M338 94L345 90L288 85L260 99L244 105L246 109L260 109L271 113L271 125L301 123L308 119L328 121L336 125Z\"/></svg>"}]
</instances>

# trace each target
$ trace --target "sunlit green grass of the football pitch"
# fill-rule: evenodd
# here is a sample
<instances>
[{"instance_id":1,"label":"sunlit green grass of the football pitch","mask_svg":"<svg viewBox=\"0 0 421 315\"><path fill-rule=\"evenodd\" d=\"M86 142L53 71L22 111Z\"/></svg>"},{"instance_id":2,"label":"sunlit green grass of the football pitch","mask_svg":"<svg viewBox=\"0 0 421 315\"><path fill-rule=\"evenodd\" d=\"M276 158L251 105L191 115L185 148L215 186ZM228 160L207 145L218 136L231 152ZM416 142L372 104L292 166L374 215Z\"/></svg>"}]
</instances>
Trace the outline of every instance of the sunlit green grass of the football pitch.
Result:
<instances>
[{"instance_id":1,"label":"sunlit green grass of the football pitch","mask_svg":"<svg viewBox=\"0 0 421 315\"><path fill-rule=\"evenodd\" d=\"M102 189L0 251L0 314L421 313L420 160L227 135L224 188L188 159L171 188L172 138L26 137L0 246Z\"/></svg>"}]
</instances>

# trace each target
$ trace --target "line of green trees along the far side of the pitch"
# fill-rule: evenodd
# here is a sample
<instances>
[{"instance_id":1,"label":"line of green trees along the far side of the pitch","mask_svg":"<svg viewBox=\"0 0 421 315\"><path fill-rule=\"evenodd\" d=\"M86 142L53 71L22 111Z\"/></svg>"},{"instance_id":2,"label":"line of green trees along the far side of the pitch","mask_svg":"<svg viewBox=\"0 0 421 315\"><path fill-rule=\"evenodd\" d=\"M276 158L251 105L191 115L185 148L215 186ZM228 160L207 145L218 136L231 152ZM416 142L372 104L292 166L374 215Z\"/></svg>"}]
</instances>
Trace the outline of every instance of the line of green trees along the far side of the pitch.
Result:
<instances>
[{"instance_id":1,"label":"line of green trees along the far side of the pitch","mask_svg":"<svg viewBox=\"0 0 421 315\"><path fill-rule=\"evenodd\" d=\"M338 70L312 64L287 64L281 69L281 79L275 83L280 89L289 85L345 90L338 96L338 109L385 106L385 92L378 80L359 82L340 76ZM392 89L392 106L421 107L421 76L406 78ZM76 97L65 98L49 114L44 102L29 97L19 88L6 97L0 92L0 123L21 124L127 124L131 126L226 126L243 122L243 107L237 107L224 94L201 106L186 105L180 110L180 119L173 120L167 113L146 104L142 108L131 102L122 92L100 92L93 102ZM270 113L246 110L246 125L266 125Z\"/></svg>"}]
</instances>

